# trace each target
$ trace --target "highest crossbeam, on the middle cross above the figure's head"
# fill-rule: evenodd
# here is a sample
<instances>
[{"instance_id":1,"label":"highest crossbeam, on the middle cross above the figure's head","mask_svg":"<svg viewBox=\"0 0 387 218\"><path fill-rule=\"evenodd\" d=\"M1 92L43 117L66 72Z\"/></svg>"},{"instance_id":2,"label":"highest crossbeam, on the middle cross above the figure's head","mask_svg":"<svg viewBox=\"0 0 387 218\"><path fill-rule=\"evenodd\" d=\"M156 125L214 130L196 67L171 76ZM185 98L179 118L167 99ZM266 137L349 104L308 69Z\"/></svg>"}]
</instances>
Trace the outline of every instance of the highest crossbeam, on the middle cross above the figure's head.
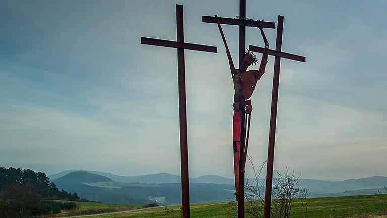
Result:
<instances>
[{"instance_id":1,"label":"highest crossbeam, on the middle cross above the figure's head","mask_svg":"<svg viewBox=\"0 0 387 218\"><path fill-rule=\"evenodd\" d=\"M239 17L242 18L242 16L240 16L240 15L239 15ZM245 17L245 16L243 16L243 17ZM276 28L275 22L267 22L267 21L259 21L259 20L244 20L244 19L237 19L237 18L219 17L219 21L221 24L236 25L236 26L263 27L263 28L270 28L270 29ZM216 18L214 16L203 15L202 22L203 23L216 23Z\"/></svg>"}]
</instances>

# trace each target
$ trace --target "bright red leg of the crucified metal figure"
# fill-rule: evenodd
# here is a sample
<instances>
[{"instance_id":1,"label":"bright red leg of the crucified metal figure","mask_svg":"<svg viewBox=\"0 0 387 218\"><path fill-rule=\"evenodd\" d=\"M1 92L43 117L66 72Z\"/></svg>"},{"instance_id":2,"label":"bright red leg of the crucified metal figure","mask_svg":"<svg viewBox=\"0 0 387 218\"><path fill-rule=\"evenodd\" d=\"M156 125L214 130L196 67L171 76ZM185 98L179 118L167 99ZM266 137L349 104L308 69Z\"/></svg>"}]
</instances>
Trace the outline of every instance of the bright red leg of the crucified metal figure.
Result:
<instances>
[{"instance_id":1,"label":"bright red leg of the crucified metal figure","mask_svg":"<svg viewBox=\"0 0 387 218\"><path fill-rule=\"evenodd\" d=\"M239 194L239 159L240 159L240 130L242 125L242 112L234 111L232 125L232 141L234 150L234 175L235 175L235 193Z\"/></svg>"}]
</instances>

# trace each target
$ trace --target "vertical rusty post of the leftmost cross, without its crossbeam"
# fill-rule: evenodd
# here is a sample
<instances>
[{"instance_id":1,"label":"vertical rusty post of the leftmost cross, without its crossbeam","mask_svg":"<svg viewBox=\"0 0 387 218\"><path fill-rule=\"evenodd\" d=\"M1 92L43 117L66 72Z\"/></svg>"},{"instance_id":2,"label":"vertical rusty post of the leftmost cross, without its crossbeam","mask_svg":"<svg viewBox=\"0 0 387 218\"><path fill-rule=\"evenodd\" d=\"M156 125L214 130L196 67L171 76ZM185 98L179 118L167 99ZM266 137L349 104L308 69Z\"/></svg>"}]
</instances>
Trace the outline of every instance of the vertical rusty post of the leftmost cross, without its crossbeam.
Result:
<instances>
[{"instance_id":1,"label":"vertical rusty post of the leftmost cross, without its crossbeam","mask_svg":"<svg viewBox=\"0 0 387 218\"><path fill-rule=\"evenodd\" d=\"M183 6L176 5L177 41L184 42ZM179 83L180 160L181 160L181 203L182 217L189 218L189 175L187 110L185 97L184 48L177 48L177 73Z\"/></svg>"}]
</instances>

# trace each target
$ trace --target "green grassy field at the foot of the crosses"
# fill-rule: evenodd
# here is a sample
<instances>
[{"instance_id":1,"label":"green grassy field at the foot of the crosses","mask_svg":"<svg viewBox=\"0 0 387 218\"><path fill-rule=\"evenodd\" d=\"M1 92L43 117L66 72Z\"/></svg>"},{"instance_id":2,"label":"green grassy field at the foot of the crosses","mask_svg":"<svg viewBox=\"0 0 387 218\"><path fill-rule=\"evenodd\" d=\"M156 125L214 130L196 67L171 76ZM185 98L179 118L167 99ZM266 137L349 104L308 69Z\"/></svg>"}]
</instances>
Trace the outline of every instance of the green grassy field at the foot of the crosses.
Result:
<instances>
[{"instance_id":1,"label":"green grassy field at the foot of the crosses","mask_svg":"<svg viewBox=\"0 0 387 218\"><path fill-rule=\"evenodd\" d=\"M191 204L191 217L232 217L233 209L224 209L227 203L197 203ZM246 204L247 206L247 204ZM364 214L386 214L387 195L364 195L348 197L309 198L307 200L307 215L304 205L296 200L291 217L354 217ZM90 218L148 218L148 217L181 217L180 206L166 206L136 212L125 212ZM246 214L246 217L247 214Z\"/></svg>"}]
</instances>

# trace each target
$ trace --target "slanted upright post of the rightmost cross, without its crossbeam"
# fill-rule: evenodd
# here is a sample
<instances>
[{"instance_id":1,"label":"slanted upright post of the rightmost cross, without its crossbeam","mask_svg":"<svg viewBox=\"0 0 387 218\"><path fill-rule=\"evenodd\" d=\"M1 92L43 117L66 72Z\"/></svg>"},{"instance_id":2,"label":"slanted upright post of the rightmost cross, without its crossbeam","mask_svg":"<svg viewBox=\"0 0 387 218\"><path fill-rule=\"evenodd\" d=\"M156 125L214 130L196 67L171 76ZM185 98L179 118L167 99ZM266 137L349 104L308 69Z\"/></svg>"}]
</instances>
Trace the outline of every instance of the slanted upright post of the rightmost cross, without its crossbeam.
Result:
<instances>
[{"instance_id":1,"label":"slanted upright post of the rightmost cross, without its crossbeam","mask_svg":"<svg viewBox=\"0 0 387 218\"><path fill-rule=\"evenodd\" d=\"M281 51L281 48L282 48L283 26L284 26L284 17L281 15L278 15L276 51ZM270 209L271 209L271 203L272 203L274 145L276 141L278 88L280 84L280 65L281 65L281 57L276 56L274 60L272 111L270 115L269 151L268 151L268 166L267 166L268 168L266 172L266 193L265 193L265 210L264 210L265 218L270 218Z\"/></svg>"}]
</instances>

